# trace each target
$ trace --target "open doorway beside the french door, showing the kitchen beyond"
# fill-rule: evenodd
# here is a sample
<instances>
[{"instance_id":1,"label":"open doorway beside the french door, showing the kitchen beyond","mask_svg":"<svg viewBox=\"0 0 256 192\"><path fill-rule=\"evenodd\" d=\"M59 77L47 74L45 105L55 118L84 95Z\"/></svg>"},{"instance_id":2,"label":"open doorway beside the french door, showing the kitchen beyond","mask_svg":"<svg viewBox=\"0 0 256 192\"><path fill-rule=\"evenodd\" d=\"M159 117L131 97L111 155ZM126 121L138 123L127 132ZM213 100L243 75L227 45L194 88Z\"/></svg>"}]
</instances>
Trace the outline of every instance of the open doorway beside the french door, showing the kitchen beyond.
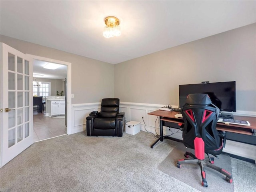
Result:
<instances>
[{"instance_id":1,"label":"open doorway beside the french door, showing the kitchen beyond","mask_svg":"<svg viewBox=\"0 0 256 192\"><path fill-rule=\"evenodd\" d=\"M71 63L40 56L31 56L33 58L33 78L36 78L36 83L39 85L49 83L49 86L38 88L38 93L42 94L42 96L44 94L44 104L42 105L42 110L37 108L33 110L33 140L37 142L63 134L70 134L71 98L69 95L71 95ZM49 70L47 71L43 68L48 63L58 64L60 69L49 72ZM35 83L33 82L33 84ZM64 113L61 112L60 115L49 114L52 100L61 102L61 108L63 108L64 104Z\"/></svg>"}]
</instances>

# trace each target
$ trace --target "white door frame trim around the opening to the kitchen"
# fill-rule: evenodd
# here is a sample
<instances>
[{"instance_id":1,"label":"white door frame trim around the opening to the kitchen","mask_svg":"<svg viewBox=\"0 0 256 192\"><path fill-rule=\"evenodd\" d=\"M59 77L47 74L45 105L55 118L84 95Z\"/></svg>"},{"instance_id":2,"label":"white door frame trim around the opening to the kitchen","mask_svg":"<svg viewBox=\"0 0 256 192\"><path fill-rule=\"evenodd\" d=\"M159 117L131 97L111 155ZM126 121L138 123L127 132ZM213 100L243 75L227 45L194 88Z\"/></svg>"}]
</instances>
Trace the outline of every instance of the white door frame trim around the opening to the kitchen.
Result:
<instances>
[{"instance_id":1,"label":"white door frame trim around the opening to the kitchen","mask_svg":"<svg viewBox=\"0 0 256 192\"><path fill-rule=\"evenodd\" d=\"M67 134L70 135L72 134L72 99L71 99L71 64L70 62L66 62L66 61L60 61L60 60L55 60L55 59L51 59L51 58L47 58L47 57L41 57L41 56L36 56L36 55L31 55L31 54L26 54L28 56L30 56L34 60L41 60L41 61L46 61L46 62L53 62L53 63L57 63L57 64L62 64L62 65L66 65L67 66ZM32 63L33 66L33 63Z\"/></svg>"}]
</instances>

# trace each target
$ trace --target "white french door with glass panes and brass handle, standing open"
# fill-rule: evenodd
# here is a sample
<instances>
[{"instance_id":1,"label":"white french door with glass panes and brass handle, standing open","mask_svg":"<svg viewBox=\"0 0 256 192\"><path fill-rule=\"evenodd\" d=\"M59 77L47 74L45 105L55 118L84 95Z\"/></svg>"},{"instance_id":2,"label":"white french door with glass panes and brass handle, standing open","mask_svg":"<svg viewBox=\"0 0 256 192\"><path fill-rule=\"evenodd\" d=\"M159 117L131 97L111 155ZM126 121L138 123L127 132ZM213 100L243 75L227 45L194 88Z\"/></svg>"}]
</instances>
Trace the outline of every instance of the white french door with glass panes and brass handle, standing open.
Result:
<instances>
[{"instance_id":1,"label":"white french door with glass panes and brass handle, standing open","mask_svg":"<svg viewBox=\"0 0 256 192\"><path fill-rule=\"evenodd\" d=\"M0 44L0 167L33 144L32 59Z\"/></svg>"}]
</instances>

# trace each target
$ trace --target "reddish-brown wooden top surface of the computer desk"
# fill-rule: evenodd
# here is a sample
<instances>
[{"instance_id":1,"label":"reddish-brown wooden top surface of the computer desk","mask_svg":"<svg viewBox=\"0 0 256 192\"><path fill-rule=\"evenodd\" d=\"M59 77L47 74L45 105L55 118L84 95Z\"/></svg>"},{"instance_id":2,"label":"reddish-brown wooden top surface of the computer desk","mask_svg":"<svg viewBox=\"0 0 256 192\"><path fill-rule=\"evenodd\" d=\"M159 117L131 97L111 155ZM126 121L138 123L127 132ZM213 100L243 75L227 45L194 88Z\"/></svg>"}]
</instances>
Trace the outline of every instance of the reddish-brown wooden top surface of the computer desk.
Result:
<instances>
[{"instance_id":1,"label":"reddish-brown wooden top surface of the computer desk","mask_svg":"<svg viewBox=\"0 0 256 192\"><path fill-rule=\"evenodd\" d=\"M166 118L172 118L172 119L182 119L182 118L176 118L175 115L178 112L175 111L163 111L163 110L156 110L153 112L148 113L149 115L156 115ZM256 129L256 117L248 117L248 116L234 116L235 120L244 120L250 122L250 126L244 126L244 125L236 125L236 124L225 124L225 123L217 123L218 127L236 127L236 128L248 128L248 129Z\"/></svg>"}]
</instances>

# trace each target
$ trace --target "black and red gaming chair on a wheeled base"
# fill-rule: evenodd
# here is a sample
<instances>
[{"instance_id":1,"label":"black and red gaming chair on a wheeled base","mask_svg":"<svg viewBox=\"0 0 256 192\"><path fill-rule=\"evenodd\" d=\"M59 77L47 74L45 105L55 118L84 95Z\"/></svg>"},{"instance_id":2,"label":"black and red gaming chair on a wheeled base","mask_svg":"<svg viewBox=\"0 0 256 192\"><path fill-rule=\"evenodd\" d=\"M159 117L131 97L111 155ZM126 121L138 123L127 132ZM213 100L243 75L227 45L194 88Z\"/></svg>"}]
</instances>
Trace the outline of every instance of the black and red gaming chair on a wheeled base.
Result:
<instances>
[{"instance_id":1,"label":"black and red gaming chair on a wheeled base","mask_svg":"<svg viewBox=\"0 0 256 192\"><path fill-rule=\"evenodd\" d=\"M193 159L180 159L177 166L181 164L192 163L198 164L201 168L202 186L208 187L204 166L212 168L226 176L226 181L232 183L232 175L213 165L214 158L222 152L225 144L226 133L218 132L216 124L220 110L212 104L207 94L190 94L186 99L186 104L182 108L184 124L181 125L183 143L186 147L194 149L195 154L186 152L184 156ZM205 158L205 153L207 158Z\"/></svg>"}]
</instances>

